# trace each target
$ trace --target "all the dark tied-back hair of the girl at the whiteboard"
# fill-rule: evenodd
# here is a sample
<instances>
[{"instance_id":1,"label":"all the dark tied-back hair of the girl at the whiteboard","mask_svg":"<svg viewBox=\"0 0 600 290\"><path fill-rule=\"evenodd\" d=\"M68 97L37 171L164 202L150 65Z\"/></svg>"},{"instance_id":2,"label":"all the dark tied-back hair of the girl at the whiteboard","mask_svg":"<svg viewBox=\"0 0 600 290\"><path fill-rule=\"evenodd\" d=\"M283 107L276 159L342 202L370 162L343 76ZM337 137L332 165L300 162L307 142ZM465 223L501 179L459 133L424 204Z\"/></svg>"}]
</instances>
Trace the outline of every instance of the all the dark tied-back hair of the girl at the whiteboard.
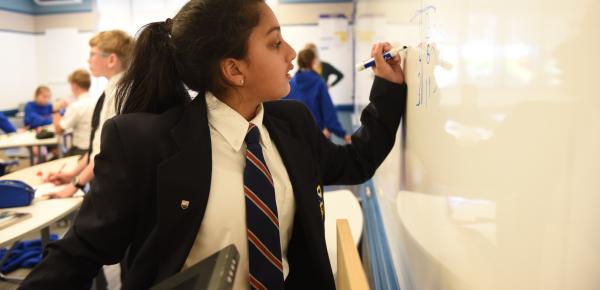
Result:
<instances>
[{"instance_id":1,"label":"all the dark tied-back hair of the girl at the whiteboard","mask_svg":"<svg viewBox=\"0 0 600 290\"><path fill-rule=\"evenodd\" d=\"M173 20L146 25L117 89L117 112L163 112L189 102L187 88L200 97L225 92L220 61L246 56L259 3L264 0L191 0Z\"/></svg>"}]
</instances>

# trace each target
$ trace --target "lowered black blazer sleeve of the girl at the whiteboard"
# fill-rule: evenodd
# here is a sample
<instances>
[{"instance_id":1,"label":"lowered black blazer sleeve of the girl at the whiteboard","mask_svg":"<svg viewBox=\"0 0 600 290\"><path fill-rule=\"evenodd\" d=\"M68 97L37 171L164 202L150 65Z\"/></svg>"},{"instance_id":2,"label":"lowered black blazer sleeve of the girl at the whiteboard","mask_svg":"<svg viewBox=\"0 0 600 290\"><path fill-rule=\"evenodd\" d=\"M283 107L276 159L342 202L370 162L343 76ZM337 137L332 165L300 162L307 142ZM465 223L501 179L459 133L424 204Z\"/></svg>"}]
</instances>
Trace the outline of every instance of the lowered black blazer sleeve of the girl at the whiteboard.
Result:
<instances>
[{"instance_id":1,"label":"lowered black blazer sleeve of the girl at the whiteboard","mask_svg":"<svg viewBox=\"0 0 600 290\"><path fill-rule=\"evenodd\" d=\"M135 232L135 191L116 123L102 130L90 193L65 237L46 247L19 289L89 289L102 265L121 261Z\"/></svg>"}]
</instances>

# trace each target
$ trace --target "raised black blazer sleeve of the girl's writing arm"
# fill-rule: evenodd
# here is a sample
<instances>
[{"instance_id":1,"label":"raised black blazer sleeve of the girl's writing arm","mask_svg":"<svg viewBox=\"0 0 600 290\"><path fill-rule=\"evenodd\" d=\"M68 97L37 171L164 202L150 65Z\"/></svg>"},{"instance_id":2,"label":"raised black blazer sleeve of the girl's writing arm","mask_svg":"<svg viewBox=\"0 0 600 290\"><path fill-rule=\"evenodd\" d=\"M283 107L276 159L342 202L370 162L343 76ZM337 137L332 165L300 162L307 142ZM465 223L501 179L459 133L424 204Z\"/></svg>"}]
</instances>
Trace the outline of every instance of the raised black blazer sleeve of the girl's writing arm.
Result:
<instances>
[{"instance_id":1,"label":"raised black blazer sleeve of the girl's writing arm","mask_svg":"<svg viewBox=\"0 0 600 290\"><path fill-rule=\"evenodd\" d=\"M370 103L361 113L361 127L352 142L336 145L318 128L316 140L318 170L324 185L358 184L375 174L375 170L394 146L400 119L406 109L406 84L396 84L375 77Z\"/></svg>"}]
</instances>

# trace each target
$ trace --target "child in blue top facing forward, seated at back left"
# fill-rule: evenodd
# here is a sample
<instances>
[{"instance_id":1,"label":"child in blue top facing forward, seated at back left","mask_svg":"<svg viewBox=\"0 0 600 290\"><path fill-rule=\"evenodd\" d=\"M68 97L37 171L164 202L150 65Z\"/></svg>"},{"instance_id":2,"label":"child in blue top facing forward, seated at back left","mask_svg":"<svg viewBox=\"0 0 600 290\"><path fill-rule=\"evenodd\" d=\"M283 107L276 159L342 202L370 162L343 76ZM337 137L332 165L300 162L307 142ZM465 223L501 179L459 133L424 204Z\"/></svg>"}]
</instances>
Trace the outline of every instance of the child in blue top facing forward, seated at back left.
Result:
<instances>
[{"instance_id":1,"label":"child in blue top facing forward, seated at back left","mask_svg":"<svg viewBox=\"0 0 600 290\"><path fill-rule=\"evenodd\" d=\"M47 86L39 86L35 89L35 97L32 102L25 105L25 126L29 129L52 124L52 114L58 112L63 103L57 103L55 106L50 103L52 92Z\"/></svg>"}]
</instances>

